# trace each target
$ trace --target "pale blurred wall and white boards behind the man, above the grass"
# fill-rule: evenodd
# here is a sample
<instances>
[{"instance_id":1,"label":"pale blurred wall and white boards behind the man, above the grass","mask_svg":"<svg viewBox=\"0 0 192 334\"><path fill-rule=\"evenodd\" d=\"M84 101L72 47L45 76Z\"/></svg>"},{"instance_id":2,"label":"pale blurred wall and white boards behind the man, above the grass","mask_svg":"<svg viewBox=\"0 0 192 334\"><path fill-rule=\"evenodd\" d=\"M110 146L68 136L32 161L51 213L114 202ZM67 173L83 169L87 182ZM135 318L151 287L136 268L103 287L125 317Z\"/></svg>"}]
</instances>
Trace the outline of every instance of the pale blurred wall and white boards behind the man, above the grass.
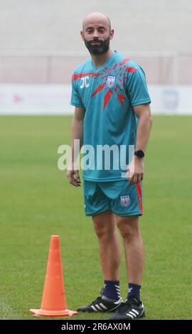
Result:
<instances>
[{"instance_id":1,"label":"pale blurred wall and white boards behind the man, above the grass","mask_svg":"<svg viewBox=\"0 0 192 334\"><path fill-rule=\"evenodd\" d=\"M1 0L0 4L1 114L72 112L70 77L89 56L80 28L90 11L103 11L111 18L112 47L144 68L152 111L191 113L186 102L192 92L191 1Z\"/></svg>"}]
</instances>

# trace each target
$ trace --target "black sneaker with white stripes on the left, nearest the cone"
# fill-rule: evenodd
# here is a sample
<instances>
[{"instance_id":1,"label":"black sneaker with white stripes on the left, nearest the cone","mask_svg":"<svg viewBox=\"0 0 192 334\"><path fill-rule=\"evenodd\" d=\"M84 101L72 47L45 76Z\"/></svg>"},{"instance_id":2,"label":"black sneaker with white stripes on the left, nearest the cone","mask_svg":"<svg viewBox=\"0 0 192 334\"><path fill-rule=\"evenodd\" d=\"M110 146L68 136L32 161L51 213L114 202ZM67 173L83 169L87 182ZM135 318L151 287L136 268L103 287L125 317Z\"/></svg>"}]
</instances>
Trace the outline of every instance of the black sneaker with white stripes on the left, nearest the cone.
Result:
<instances>
[{"instance_id":1,"label":"black sneaker with white stripes on the left, nearest the cone","mask_svg":"<svg viewBox=\"0 0 192 334\"><path fill-rule=\"evenodd\" d=\"M88 312L88 313L97 313L97 312L112 312L119 308L122 304L122 298L119 298L118 301L107 298L105 296L97 297L95 301L92 301L87 306L81 306L77 309L78 312Z\"/></svg>"}]
</instances>

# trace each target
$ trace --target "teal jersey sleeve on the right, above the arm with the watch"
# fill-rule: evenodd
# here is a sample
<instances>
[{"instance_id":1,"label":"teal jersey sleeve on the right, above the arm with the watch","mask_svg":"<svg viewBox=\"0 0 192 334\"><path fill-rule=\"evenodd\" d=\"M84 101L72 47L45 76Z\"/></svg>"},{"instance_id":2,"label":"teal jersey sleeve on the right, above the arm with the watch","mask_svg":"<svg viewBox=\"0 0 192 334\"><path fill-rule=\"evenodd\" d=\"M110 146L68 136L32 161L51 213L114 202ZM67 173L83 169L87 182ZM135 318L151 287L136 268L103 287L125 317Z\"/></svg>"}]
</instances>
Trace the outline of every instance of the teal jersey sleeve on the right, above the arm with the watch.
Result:
<instances>
[{"instance_id":1,"label":"teal jersey sleeve on the right, above the arm with the watch","mask_svg":"<svg viewBox=\"0 0 192 334\"><path fill-rule=\"evenodd\" d=\"M133 107L139 104L151 103L144 70L142 70L142 68L139 67L134 72L129 72L127 95Z\"/></svg>"}]
</instances>

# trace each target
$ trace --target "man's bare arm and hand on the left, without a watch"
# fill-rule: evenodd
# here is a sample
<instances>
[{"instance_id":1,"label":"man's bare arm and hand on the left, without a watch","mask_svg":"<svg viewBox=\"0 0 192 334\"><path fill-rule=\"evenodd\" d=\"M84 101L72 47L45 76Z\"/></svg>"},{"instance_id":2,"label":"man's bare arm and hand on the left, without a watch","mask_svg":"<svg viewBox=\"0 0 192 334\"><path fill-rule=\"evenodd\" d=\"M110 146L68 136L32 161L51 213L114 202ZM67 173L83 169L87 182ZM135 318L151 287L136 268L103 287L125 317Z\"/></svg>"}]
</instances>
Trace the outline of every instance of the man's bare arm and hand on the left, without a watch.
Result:
<instances>
[{"instance_id":1,"label":"man's bare arm and hand on the left, without a watch","mask_svg":"<svg viewBox=\"0 0 192 334\"><path fill-rule=\"evenodd\" d=\"M70 166L68 168L68 181L70 184L75 187L80 186L80 176L78 167L75 166L74 161L74 140L79 139L80 148L82 147L83 142L83 119L85 117L85 108L84 107L75 107L75 114L73 117L73 122L71 126L71 157L70 157Z\"/></svg>"}]
</instances>

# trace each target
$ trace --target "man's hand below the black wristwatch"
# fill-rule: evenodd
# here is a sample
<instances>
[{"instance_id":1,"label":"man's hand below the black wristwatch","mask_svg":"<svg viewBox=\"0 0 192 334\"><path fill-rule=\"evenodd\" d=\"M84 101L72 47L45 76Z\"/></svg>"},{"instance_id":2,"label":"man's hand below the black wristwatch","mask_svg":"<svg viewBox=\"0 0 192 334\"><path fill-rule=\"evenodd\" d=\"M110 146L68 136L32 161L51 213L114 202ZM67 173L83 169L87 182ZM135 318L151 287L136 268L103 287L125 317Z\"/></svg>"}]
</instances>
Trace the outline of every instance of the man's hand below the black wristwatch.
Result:
<instances>
[{"instance_id":1,"label":"man's hand below the black wristwatch","mask_svg":"<svg viewBox=\"0 0 192 334\"><path fill-rule=\"evenodd\" d=\"M128 181L130 184L137 184L144 178L144 158L134 156L128 167Z\"/></svg>"}]
</instances>

